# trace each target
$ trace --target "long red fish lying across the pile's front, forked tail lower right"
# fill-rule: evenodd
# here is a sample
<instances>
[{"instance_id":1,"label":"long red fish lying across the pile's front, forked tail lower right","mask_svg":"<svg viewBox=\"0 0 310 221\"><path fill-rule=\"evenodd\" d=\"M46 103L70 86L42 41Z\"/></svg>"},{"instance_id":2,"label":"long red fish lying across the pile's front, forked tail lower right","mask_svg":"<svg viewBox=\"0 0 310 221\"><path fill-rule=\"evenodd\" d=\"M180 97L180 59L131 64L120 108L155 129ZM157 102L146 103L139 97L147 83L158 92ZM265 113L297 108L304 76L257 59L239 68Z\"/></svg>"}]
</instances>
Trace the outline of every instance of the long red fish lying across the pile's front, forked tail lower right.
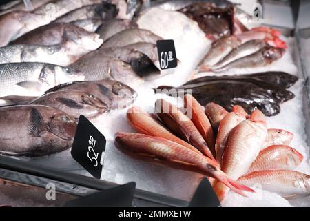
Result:
<instances>
[{"instance_id":1,"label":"long red fish lying across the pile's front, forked tail lower right","mask_svg":"<svg viewBox=\"0 0 310 221\"><path fill-rule=\"evenodd\" d=\"M213 162L203 155L199 155L176 142L162 137L152 137L139 133L116 133L114 144L124 153L135 155L146 155L157 158L161 162L172 162L174 164L185 164L196 167L201 173L214 177L229 186L236 193L242 194L242 190L252 191L246 186L240 186L231 180L225 173L220 171Z\"/></svg>"}]
</instances>

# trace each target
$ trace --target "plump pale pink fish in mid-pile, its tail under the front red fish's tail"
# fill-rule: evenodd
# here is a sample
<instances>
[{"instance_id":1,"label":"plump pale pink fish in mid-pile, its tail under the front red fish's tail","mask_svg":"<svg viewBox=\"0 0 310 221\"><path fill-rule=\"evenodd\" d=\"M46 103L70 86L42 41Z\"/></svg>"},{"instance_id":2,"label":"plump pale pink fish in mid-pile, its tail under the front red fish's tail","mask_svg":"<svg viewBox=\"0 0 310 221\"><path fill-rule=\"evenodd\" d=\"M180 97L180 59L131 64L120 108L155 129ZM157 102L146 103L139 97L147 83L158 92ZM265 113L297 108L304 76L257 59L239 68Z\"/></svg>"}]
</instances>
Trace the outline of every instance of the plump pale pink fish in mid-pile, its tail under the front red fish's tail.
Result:
<instances>
[{"instance_id":1,"label":"plump pale pink fish in mid-pile, its tail under the front red fish's tail","mask_svg":"<svg viewBox=\"0 0 310 221\"><path fill-rule=\"evenodd\" d=\"M238 179L245 175L256 160L262 144L267 136L267 124L262 121L244 120L229 133L225 147L221 169L229 177ZM229 189L220 183L214 186L219 200L223 200Z\"/></svg>"}]
</instances>

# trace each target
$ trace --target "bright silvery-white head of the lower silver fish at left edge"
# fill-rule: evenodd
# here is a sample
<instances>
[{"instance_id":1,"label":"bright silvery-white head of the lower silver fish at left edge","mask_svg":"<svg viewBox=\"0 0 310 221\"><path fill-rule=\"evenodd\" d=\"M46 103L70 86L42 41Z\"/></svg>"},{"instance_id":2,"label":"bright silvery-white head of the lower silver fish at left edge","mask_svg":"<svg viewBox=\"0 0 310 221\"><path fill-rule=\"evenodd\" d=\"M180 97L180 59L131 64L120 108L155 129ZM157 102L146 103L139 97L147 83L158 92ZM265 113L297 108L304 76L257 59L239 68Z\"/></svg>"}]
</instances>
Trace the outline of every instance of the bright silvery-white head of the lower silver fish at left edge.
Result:
<instances>
[{"instance_id":1,"label":"bright silvery-white head of the lower silver fish at left edge","mask_svg":"<svg viewBox=\"0 0 310 221\"><path fill-rule=\"evenodd\" d=\"M73 68L46 64L41 70L39 79L49 86L56 86L70 81L83 81L84 76Z\"/></svg>"}]
</instances>

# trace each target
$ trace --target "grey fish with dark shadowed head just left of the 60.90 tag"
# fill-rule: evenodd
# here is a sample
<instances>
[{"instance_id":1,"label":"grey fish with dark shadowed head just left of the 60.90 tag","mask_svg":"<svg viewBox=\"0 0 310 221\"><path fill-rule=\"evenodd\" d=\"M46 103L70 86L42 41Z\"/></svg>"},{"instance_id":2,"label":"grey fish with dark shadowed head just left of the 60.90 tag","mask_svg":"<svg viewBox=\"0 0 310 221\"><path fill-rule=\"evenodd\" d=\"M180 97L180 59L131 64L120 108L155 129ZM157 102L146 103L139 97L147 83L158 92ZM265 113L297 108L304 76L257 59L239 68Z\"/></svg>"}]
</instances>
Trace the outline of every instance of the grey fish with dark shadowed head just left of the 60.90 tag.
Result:
<instances>
[{"instance_id":1,"label":"grey fish with dark shadowed head just left of the 60.90 tag","mask_svg":"<svg viewBox=\"0 0 310 221\"><path fill-rule=\"evenodd\" d=\"M72 64L72 67L76 68L77 70L85 71L85 69L92 69L90 66L101 66L101 64L98 63L109 64L111 60L115 59L125 61L127 64L130 64L138 77L160 74L158 68L156 68L156 66L153 64L153 61L147 57L147 55L137 50L123 47L99 48L99 50L90 52L83 58L79 59L79 61L76 61L76 63ZM103 70L109 70L109 66ZM107 71L105 72L107 73ZM129 78L129 75L127 78Z\"/></svg>"}]
</instances>

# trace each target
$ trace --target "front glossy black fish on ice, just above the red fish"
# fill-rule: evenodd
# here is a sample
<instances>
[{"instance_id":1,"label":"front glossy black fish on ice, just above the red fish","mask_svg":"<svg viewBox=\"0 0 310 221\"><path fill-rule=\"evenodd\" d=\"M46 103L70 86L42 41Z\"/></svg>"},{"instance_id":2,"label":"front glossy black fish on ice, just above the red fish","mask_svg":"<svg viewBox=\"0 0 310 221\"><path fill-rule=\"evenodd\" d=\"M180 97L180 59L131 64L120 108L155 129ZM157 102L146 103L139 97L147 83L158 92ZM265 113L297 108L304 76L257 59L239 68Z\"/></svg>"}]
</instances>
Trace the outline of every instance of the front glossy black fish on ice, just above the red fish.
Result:
<instances>
[{"instance_id":1,"label":"front glossy black fish on ice, just above the red fish","mask_svg":"<svg viewBox=\"0 0 310 221\"><path fill-rule=\"evenodd\" d=\"M161 86L161 88L165 88L165 86ZM178 89L192 89L192 95L200 104L206 105L209 102L214 102L223 106L227 111L231 111L231 108L237 104L245 108L248 113L256 108L267 116L280 113L279 101L270 94L268 89L238 79L221 80L219 78L218 81L183 85L176 88L176 90ZM169 90L161 90L161 93L169 93ZM292 98L291 93L288 96Z\"/></svg>"}]
</instances>

